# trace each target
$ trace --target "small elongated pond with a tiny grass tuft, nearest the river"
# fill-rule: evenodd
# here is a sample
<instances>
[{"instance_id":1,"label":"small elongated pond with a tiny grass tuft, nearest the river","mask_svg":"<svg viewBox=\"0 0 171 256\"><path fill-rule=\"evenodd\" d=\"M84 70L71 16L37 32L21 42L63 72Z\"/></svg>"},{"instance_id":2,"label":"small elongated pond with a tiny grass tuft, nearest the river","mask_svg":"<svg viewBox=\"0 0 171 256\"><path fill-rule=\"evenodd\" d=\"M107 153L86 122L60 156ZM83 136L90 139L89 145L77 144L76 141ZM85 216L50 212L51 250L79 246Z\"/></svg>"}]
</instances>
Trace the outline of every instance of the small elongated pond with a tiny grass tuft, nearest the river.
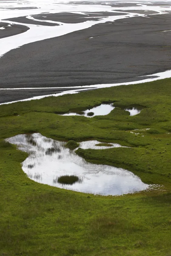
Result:
<instances>
[{"instance_id":1,"label":"small elongated pond with a tiny grass tuft, nearest the river","mask_svg":"<svg viewBox=\"0 0 171 256\"><path fill-rule=\"evenodd\" d=\"M80 113L66 113L63 116L86 116L86 117L93 117L93 116L105 116L108 115L114 109L113 103L110 104L101 104L100 106L87 109Z\"/></svg>"}]
</instances>

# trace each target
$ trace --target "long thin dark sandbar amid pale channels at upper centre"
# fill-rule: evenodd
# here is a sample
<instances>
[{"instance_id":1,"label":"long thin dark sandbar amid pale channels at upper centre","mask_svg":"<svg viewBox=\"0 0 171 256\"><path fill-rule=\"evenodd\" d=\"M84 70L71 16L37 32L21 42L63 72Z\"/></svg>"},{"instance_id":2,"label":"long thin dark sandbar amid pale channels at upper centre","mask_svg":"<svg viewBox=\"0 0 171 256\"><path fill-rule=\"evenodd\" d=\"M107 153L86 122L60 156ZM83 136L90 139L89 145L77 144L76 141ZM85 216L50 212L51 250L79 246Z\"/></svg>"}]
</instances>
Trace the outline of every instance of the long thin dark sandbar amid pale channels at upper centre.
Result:
<instances>
[{"instance_id":1,"label":"long thin dark sandbar amid pale channels at upper centre","mask_svg":"<svg viewBox=\"0 0 171 256\"><path fill-rule=\"evenodd\" d=\"M117 12L92 12L92 13L85 13L77 14L71 12L60 12L60 13L52 13L52 14L40 14L40 15L33 15L35 19L39 20L53 20L53 21L60 21L63 23L81 23L87 20L99 20L100 17L108 17L108 16L116 16L122 15L122 13ZM124 13L123 13L124 15ZM97 17L97 18L94 18ZM98 18L99 17L99 18Z\"/></svg>"}]
</instances>

